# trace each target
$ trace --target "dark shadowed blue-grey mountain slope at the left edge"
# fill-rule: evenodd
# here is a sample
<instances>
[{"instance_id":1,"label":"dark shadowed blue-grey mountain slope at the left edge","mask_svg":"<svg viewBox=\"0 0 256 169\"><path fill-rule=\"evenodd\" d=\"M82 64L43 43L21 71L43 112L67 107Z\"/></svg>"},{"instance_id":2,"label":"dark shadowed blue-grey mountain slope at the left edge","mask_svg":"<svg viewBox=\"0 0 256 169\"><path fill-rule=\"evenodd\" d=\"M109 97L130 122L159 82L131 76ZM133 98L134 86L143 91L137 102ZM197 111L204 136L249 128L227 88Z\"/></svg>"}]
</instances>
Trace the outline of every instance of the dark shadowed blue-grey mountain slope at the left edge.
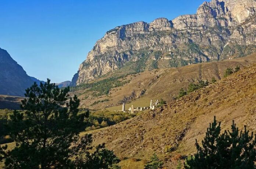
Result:
<instances>
[{"instance_id":1,"label":"dark shadowed blue-grey mountain slope at the left edge","mask_svg":"<svg viewBox=\"0 0 256 169\"><path fill-rule=\"evenodd\" d=\"M28 76L21 65L0 48L0 94L24 96L25 89L34 82L43 81Z\"/></svg>"}]
</instances>

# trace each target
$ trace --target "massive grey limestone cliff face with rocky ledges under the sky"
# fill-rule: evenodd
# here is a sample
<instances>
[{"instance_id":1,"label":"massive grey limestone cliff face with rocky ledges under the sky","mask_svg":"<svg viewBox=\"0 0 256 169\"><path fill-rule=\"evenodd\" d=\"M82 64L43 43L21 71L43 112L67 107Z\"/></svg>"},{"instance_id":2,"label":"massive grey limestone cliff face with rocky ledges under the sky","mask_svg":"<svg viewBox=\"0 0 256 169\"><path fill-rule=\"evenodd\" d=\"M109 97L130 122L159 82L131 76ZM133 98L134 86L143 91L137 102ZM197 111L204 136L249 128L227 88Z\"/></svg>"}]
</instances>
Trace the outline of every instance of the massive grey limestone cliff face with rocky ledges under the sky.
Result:
<instances>
[{"instance_id":1,"label":"massive grey limestone cliff face with rocky ledges under the sky","mask_svg":"<svg viewBox=\"0 0 256 169\"><path fill-rule=\"evenodd\" d=\"M169 59L170 67L248 55L256 49L255 11L256 0L212 0L193 15L115 27L96 42L72 84L89 82L140 60L142 50L160 51L160 58L148 59Z\"/></svg>"}]
</instances>

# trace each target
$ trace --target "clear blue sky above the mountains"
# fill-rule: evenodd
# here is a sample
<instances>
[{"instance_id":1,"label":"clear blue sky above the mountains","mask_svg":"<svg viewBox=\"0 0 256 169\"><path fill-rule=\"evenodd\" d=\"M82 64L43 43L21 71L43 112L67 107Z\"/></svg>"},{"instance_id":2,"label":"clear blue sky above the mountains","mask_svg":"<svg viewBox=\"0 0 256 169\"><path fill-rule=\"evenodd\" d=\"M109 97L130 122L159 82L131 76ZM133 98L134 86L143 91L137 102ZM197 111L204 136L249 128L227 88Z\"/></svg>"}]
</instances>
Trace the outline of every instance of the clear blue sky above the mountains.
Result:
<instances>
[{"instance_id":1,"label":"clear blue sky above the mountains","mask_svg":"<svg viewBox=\"0 0 256 169\"><path fill-rule=\"evenodd\" d=\"M0 0L0 48L28 75L71 80L106 31L194 14L203 0Z\"/></svg>"}]
</instances>

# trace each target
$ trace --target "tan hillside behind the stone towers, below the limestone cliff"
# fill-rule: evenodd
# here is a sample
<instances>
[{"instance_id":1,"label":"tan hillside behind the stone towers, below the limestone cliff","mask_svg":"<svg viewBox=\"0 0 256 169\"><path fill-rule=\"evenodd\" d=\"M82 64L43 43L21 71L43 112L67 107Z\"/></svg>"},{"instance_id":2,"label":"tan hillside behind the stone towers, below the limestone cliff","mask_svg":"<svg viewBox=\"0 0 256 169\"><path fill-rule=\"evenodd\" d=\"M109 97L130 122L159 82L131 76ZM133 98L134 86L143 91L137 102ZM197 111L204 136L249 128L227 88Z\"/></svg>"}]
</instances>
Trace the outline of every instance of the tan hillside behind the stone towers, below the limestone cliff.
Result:
<instances>
[{"instance_id":1,"label":"tan hillside behind the stone towers, below the limestone cliff","mask_svg":"<svg viewBox=\"0 0 256 169\"><path fill-rule=\"evenodd\" d=\"M87 83L87 87L79 85L71 90L72 94L77 94L81 99L81 107L121 110L121 102L125 101L126 109L129 109L131 103L135 107L148 106L150 99L163 98L171 102L179 89L181 87L186 89L191 82L206 79L211 81L212 77L218 80L223 77L228 67L234 68L236 65L243 67L252 63L256 63L256 53L239 59L198 63L179 68L159 68L125 76L115 71L113 74ZM104 92L101 91L102 89ZM105 93L107 90L109 94Z\"/></svg>"}]
</instances>

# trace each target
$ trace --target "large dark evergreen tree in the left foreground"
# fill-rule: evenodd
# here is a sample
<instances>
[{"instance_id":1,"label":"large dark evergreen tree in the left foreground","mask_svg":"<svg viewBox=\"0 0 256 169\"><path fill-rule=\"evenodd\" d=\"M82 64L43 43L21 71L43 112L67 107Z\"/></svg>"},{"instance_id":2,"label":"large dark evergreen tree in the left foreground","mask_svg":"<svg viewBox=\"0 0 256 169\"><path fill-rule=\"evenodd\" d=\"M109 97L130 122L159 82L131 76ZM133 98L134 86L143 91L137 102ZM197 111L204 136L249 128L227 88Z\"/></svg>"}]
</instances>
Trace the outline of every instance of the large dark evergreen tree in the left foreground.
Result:
<instances>
[{"instance_id":1,"label":"large dark evergreen tree in the left foreground","mask_svg":"<svg viewBox=\"0 0 256 169\"><path fill-rule=\"evenodd\" d=\"M0 147L6 169L108 169L119 161L104 144L89 153L92 135L79 137L88 113L78 115L79 99L69 98L68 91L69 87L59 89L49 79L26 90L24 113L14 111L8 123L16 146L10 151Z\"/></svg>"}]
</instances>

